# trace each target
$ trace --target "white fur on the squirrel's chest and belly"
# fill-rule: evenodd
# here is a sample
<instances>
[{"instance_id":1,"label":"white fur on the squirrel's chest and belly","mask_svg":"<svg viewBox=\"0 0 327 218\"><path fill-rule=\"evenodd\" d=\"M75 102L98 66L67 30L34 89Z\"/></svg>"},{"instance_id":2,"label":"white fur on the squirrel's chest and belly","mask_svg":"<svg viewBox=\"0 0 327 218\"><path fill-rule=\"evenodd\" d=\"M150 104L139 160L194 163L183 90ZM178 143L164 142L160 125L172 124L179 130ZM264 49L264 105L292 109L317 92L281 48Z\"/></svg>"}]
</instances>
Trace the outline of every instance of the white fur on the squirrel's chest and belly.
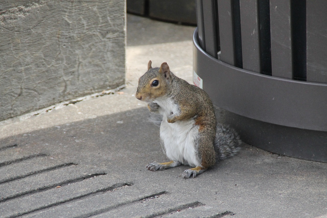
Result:
<instances>
[{"instance_id":1,"label":"white fur on the squirrel's chest and belly","mask_svg":"<svg viewBox=\"0 0 327 218\"><path fill-rule=\"evenodd\" d=\"M191 118L185 121L176 121L168 123L167 116L173 112L176 113L176 106L165 99L155 101L161 107L160 113L163 115L163 121L160 126L160 138L163 140L166 155L169 159L179 161L192 167L201 166L196 151L195 141L198 141L198 129L195 125L195 119ZM162 102L166 102L164 105Z\"/></svg>"}]
</instances>

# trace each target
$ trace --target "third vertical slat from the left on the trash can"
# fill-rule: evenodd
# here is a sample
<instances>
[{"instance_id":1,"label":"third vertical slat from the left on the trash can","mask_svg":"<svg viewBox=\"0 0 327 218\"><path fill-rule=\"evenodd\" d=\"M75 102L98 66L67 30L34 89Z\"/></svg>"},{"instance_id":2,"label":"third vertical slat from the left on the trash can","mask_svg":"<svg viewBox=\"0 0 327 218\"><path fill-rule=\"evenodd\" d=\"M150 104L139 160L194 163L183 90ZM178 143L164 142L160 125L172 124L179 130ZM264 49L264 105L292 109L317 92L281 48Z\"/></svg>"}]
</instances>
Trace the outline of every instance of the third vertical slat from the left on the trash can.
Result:
<instances>
[{"instance_id":1,"label":"third vertical slat from the left on the trash can","mask_svg":"<svg viewBox=\"0 0 327 218\"><path fill-rule=\"evenodd\" d=\"M232 0L218 0L218 20L221 61L235 66L235 40Z\"/></svg>"}]
</instances>

